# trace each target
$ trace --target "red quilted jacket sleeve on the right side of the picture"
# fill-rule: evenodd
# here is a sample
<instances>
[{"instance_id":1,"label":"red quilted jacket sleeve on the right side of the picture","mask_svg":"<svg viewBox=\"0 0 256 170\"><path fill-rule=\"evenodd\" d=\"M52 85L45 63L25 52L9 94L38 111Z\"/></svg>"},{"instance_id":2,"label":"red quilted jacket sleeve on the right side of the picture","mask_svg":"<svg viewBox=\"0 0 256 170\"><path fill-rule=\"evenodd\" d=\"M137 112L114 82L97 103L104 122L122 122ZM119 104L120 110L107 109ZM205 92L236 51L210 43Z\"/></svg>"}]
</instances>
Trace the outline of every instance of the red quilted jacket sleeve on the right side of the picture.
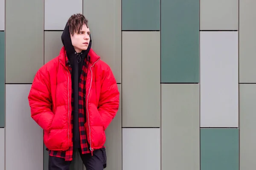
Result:
<instances>
[{"instance_id":1,"label":"red quilted jacket sleeve on the right side of the picture","mask_svg":"<svg viewBox=\"0 0 256 170\"><path fill-rule=\"evenodd\" d=\"M119 91L116 79L108 67L102 77L102 87L99 97L98 111L102 116L104 130L107 129L119 108Z\"/></svg>"}]
</instances>

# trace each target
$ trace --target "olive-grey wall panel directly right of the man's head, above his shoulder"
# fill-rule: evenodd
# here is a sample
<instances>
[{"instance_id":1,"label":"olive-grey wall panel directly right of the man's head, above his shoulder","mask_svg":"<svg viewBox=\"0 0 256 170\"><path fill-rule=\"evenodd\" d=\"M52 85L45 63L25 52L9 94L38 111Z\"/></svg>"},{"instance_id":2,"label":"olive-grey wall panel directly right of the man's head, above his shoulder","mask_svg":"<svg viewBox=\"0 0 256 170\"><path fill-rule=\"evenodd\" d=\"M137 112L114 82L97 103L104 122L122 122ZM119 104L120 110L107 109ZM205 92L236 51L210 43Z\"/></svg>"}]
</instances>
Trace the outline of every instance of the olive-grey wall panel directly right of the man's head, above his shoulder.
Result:
<instances>
[{"instance_id":1,"label":"olive-grey wall panel directly right of the man's head, above his shoulder","mask_svg":"<svg viewBox=\"0 0 256 170\"><path fill-rule=\"evenodd\" d=\"M84 0L92 48L121 83L121 0Z\"/></svg>"}]
</instances>

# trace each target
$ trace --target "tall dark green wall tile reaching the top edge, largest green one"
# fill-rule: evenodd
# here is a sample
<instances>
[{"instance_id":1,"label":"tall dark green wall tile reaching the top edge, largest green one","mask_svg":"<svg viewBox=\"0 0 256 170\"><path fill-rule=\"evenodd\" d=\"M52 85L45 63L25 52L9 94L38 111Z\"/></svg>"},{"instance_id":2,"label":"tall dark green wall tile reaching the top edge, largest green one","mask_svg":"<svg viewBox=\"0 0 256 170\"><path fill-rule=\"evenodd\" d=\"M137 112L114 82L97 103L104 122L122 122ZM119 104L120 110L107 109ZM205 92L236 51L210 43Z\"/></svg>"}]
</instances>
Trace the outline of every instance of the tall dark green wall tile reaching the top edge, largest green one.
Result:
<instances>
[{"instance_id":1,"label":"tall dark green wall tile reaching the top edge, largest green one","mask_svg":"<svg viewBox=\"0 0 256 170\"><path fill-rule=\"evenodd\" d=\"M199 82L199 0L161 1L161 82Z\"/></svg>"}]
</instances>

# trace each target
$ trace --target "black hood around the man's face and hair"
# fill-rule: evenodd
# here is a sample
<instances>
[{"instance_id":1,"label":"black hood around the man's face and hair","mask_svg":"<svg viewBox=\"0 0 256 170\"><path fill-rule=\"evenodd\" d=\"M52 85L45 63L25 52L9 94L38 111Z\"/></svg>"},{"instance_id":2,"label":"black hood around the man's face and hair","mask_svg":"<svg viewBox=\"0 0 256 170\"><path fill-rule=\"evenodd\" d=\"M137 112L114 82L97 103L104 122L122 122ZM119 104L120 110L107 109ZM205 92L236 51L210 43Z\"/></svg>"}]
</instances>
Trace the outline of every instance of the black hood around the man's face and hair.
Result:
<instances>
[{"instance_id":1,"label":"black hood around the man's face and hair","mask_svg":"<svg viewBox=\"0 0 256 170\"><path fill-rule=\"evenodd\" d=\"M72 42L71 42L69 26L67 25L67 23L66 23L64 31L61 35L61 41L64 45L65 50L66 50L68 59L70 59L71 57L75 57L76 56L76 51L75 51L75 48L74 48L74 46L72 45ZM87 50L81 51L82 59L84 59L84 57L86 57L87 54L89 53L91 45L92 45L92 39L90 37L90 42L89 42Z\"/></svg>"}]
</instances>

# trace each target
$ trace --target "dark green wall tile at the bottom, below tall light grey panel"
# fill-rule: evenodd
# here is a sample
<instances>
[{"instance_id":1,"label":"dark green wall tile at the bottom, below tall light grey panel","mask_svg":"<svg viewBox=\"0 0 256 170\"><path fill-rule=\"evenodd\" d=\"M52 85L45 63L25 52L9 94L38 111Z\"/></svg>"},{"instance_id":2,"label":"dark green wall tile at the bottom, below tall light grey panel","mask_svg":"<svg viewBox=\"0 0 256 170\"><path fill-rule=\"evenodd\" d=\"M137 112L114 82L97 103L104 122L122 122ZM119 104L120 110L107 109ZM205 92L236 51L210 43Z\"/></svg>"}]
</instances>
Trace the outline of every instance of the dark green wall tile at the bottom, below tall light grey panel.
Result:
<instances>
[{"instance_id":1,"label":"dark green wall tile at the bottom, below tall light grey panel","mask_svg":"<svg viewBox=\"0 0 256 170\"><path fill-rule=\"evenodd\" d=\"M239 170L239 129L201 129L201 170Z\"/></svg>"}]
</instances>

